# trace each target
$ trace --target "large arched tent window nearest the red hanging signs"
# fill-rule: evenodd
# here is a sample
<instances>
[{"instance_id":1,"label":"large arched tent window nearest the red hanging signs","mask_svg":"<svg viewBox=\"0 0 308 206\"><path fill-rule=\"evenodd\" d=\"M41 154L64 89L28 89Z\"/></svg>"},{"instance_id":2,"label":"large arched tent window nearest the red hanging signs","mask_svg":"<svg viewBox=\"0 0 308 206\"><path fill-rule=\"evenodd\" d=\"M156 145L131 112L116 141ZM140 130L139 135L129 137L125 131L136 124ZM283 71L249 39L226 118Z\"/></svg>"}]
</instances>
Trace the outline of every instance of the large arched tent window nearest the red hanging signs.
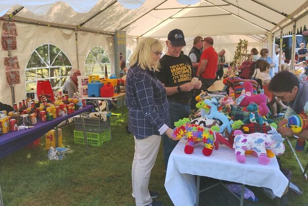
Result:
<instances>
[{"instance_id":1,"label":"large arched tent window nearest the red hanging signs","mask_svg":"<svg viewBox=\"0 0 308 206\"><path fill-rule=\"evenodd\" d=\"M36 92L38 80L49 80L53 91L61 91L71 69L70 60L59 47L52 44L38 46L25 69L26 92Z\"/></svg>"}]
</instances>

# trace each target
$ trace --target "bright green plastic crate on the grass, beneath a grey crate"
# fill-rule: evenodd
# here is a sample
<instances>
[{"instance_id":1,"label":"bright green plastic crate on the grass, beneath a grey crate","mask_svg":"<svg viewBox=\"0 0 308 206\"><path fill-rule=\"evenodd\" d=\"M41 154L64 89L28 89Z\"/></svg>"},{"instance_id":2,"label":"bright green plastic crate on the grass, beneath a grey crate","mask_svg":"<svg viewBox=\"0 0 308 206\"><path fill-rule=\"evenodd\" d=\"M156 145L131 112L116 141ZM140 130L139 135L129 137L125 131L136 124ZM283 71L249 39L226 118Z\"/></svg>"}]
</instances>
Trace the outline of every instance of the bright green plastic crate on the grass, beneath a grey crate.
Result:
<instances>
[{"instance_id":1,"label":"bright green plastic crate on the grass, beneath a grey crate","mask_svg":"<svg viewBox=\"0 0 308 206\"><path fill-rule=\"evenodd\" d=\"M86 134L88 139L88 145L102 146L104 142L110 140L109 130L105 130L101 133L86 132ZM85 139L82 131L74 130L74 143L81 143L83 145L85 144Z\"/></svg>"}]
</instances>

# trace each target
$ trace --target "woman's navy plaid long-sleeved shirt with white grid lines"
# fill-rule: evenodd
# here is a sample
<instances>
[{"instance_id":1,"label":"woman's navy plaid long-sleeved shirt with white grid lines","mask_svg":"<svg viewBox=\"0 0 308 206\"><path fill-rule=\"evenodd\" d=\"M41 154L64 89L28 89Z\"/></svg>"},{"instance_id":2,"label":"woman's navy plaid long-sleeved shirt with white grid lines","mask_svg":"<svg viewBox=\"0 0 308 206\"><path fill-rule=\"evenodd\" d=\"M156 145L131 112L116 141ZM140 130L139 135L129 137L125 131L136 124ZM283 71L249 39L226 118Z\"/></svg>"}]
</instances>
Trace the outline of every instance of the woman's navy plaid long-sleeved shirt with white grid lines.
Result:
<instances>
[{"instance_id":1,"label":"woman's navy plaid long-sleeved shirt with white grid lines","mask_svg":"<svg viewBox=\"0 0 308 206\"><path fill-rule=\"evenodd\" d=\"M137 65L129 68L126 77L128 130L143 139L162 135L170 127L166 90L153 71Z\"/></svg>"}]
</instances>

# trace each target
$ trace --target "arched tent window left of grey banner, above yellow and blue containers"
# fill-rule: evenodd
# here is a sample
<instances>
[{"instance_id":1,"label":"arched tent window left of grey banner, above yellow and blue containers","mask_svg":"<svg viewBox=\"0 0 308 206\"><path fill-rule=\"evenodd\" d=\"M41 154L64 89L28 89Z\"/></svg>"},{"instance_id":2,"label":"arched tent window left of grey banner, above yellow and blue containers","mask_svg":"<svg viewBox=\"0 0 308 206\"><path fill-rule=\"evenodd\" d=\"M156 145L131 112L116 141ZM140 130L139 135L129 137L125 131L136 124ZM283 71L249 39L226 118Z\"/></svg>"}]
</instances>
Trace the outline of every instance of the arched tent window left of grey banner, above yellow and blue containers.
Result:
<instances>
[{"instance_id":1,"label":"arched tent window left of grey banner, above yellow and blue containers","mask_svg":"<svg viewBox=\"0 0 308 206\"><path fill-rule=\"evenodd\" d=\"M99 75L100 77L105 76L105 65L107 66L108 76L110 76L111 64L107 52L102 47L93 47L86 57L86 75Z\"/></svg>"}]
</instances>

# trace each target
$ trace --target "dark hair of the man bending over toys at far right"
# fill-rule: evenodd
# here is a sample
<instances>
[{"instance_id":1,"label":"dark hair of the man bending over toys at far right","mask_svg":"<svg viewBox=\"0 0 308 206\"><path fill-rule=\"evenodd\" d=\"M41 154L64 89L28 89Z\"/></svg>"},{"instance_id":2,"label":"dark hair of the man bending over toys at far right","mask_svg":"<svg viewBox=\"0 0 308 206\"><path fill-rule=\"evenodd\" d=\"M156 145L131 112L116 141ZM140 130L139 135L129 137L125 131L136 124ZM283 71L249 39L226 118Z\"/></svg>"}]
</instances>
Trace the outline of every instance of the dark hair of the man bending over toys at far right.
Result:
<instances>
[{"instance_id":1,"label":"dark hair of the man bending over toys at far right","mask_svg":"<svg viewBox=\"0 0 308 206\"><path fill-rule=\"evenodd\" d=\"M272 92L291 92L294 87L299 88L299 79L286 70L278 72L268 85Z\"/></svg>"}]
</instances>

